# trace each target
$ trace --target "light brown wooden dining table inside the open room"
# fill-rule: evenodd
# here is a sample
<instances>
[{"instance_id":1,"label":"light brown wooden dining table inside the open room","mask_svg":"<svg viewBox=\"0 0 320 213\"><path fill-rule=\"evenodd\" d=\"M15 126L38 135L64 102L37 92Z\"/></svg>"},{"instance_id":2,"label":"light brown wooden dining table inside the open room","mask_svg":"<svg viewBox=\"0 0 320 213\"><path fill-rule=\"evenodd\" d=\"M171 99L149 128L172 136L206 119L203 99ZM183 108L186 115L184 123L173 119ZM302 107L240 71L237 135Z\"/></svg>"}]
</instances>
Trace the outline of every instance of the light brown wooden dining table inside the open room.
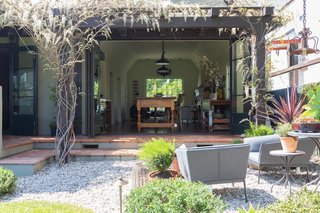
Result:
<instances>
[{"instance_id":1,"label":"light brown wooden dining table inside the open room","mask_svg":"<svg viewBox=\"0 0 320 213\"><path fill-rule=\"evenodd\" d=\"M174 128L174 99L175 97L147 97L147 98L137 98L137 110L138 110L138 131L141 128ZM169 122L141 122L141 108L158 108L164 107L169 108L171 111L171 119Z\"/></svg>"}]
</instances>

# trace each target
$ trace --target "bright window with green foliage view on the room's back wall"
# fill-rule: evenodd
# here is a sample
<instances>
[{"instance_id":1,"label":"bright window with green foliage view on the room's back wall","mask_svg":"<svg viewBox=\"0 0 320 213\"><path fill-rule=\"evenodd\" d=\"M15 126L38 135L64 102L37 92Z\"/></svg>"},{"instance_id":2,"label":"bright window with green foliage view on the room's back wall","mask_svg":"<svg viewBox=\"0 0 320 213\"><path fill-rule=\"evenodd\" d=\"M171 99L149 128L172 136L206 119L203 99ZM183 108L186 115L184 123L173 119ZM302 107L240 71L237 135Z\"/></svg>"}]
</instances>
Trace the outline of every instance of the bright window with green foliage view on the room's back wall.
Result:
<instances>
[{"instance_id":1,"label":"bright window with green foliage view on the room's back wall","mask_svg":"<svg viewBox=\"0 0 320 213\"><path fill-rule=\"evenodd\" d=\"M178 97L182 93L182 79L147 79L146 95L154 97L157 94L163 96Z\"/></svg>"}]
</instances>

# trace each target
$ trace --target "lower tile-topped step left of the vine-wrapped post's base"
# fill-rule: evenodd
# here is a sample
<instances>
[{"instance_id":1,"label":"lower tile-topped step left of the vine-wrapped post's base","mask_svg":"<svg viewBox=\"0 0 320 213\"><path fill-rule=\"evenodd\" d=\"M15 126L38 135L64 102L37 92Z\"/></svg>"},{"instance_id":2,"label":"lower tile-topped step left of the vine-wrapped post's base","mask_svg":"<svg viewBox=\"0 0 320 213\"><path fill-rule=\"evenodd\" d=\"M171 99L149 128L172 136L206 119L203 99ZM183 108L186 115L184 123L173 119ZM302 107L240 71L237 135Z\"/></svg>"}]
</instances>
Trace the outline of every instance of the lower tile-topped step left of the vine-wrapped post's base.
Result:
<instances>
[{"instance_id":1,"label":"lower tile-topped step left of the vine-wrapped post's base","mask_svg":"<svg viewBox=\"0 0 320 213\"><path fill-rule=\"evenodd\" d=\"M29 150L0 159L0 166L12 170L16 176L28 176L53 161L53 156L53 150Z\"/></svg>"}]
</instances>

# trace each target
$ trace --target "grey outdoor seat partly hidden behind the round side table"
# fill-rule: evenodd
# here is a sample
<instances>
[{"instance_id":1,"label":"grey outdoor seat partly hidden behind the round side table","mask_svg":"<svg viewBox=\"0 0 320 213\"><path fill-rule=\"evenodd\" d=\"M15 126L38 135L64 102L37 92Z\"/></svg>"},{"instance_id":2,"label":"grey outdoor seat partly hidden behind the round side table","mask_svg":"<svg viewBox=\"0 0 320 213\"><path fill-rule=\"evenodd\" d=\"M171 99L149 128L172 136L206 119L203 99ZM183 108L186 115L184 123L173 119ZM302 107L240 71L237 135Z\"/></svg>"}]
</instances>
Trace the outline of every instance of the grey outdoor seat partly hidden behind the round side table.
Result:
<instances>
[{"instance_id":1,"label":"grey outdoor seat partly hidden behind the round side table","mask_svg":"<svg viewBox=\"0 0 320 213\"><path fill-rule=\"evenodd\" d=\"M278 156L271 156L272 150L282 150L279 135L267 135L244 138L244 144L250 145L248 165L259 170L258 183L260 183L260 170L267 167L283 167L284 163ZM293 158L291 167L305 167L309 180L308 165L315 149L315 143L308 138L299 138L298 150L306 152L305 155Z\"/></svg>"}]
</instances>

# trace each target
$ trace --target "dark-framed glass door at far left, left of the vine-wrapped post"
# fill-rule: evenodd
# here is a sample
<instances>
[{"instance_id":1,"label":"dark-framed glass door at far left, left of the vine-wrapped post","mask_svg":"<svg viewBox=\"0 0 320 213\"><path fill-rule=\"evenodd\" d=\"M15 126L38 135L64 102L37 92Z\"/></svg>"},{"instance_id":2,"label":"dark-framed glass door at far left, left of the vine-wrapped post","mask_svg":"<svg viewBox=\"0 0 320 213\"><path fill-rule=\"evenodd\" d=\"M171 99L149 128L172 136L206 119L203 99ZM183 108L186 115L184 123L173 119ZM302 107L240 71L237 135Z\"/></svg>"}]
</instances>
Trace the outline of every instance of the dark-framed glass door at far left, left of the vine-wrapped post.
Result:
<instances>
[{"instance_id":1,"label":"dark-framed glass door at far left, left of the vine-wrapped post","mask_svg":"<svg viewBox=\"0 0 320 213\"><path fill-rule=\"evenodd\" d=\"M10 134L37 134L37 80L34 47L17 47L11 52L9 108Z\"/></svg>"}]
</instances>

